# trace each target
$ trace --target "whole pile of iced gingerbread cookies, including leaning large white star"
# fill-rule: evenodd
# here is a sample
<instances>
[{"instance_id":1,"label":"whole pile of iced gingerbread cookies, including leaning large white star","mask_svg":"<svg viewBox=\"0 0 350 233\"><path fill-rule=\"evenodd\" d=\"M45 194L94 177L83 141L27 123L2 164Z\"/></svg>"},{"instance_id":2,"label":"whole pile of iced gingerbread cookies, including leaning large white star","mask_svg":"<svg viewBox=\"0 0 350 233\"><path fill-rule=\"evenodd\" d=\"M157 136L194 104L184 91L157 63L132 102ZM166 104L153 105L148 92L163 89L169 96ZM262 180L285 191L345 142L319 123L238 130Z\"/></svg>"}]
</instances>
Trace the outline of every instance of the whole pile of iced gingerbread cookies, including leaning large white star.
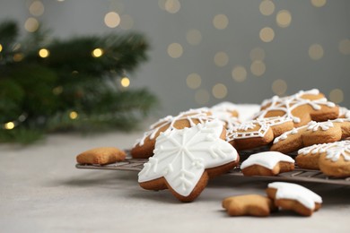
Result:
<instances>
[{"instance_id":1,"label":"whole pile of iced gingerbread cookies, including leaning large white star","mask_svg":"<svg viewBox=\"0 0 350 233\"><path fill-rule=\"evenodd\" d=\"M257 148L265 152L241 161L245 176L276 176L296 163L331 177L350 177L348 137L350 111L310 90L266 99L258 108L223 102L165 116L130 153L148 160L139 173L140 186L169 189L179 201L192 202L208 179L240 166L241 151Z\"/></svg>"}]
</instances>

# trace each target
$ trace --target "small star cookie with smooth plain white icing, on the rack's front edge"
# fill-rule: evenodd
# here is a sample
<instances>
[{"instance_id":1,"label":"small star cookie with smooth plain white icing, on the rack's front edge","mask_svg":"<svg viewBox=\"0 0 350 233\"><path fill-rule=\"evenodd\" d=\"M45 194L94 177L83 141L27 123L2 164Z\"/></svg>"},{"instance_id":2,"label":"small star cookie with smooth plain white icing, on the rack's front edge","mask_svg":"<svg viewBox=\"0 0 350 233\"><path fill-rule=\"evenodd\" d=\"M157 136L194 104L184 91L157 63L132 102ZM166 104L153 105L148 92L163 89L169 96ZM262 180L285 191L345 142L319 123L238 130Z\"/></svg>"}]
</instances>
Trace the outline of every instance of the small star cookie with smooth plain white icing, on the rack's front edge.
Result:
<instances>
[{"instance_id":1,"label":"small star cookie with smooth plain white icing, on the rack's front edge","mask_svg":"<svg viewBox=\"0 0 350 233\"><path fill-rule=\"evenodd\" d=\"M293 169L294 160L276 151L252 154L241 163L241 171L244 176L276 176Z\"/></svg>"}]
</instances>

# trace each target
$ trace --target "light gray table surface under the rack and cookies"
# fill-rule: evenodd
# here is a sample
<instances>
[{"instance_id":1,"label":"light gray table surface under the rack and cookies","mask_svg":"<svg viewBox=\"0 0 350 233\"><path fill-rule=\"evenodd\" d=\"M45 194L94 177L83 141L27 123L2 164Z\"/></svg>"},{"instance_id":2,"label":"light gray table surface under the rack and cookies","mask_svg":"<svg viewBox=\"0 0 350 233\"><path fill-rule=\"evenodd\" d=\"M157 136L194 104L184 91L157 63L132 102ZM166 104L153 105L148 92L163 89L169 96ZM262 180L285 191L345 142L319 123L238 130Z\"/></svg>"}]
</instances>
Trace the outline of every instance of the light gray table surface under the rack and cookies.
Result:
<instances>
[{"instance_id":1,"label":"light gray table surface under the rack and cookies","mask_svg":"<svg viewBox=\"0 0 350 233\"><path fill-rule=\"evenodd\" d=\"M265 194L271 181L222 176L193 203L143 190L137 172L75 168L99 146L130 148L143 133L53 134L22 147L0 144L0 232L350 232L350 186L300 183L323 198L311 217L280 211L229 217L225 197Z\"/></svg>"}]
</instances>

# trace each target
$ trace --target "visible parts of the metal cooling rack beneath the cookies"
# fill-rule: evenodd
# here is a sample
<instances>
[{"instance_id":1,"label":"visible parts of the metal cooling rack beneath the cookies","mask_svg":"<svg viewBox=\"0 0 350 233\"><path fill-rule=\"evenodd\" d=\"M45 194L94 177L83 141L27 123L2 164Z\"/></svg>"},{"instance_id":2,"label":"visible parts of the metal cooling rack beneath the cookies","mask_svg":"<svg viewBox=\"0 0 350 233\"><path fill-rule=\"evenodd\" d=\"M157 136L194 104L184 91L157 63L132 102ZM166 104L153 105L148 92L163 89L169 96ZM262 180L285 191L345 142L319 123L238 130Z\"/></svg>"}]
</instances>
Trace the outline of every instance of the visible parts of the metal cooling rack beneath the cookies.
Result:
<instances>
[{"instance_id":1,"label":"visible parts of the metal cooling rack beneath the cookies","mask_svg":"<svg viewBox=\"0 0 350 233\"><path fill-rule=\"evenodd\" d=\"M260 148L252 151L240 151L241 161L247 159L250 154L256 153L258 151L266 151L266 149ZM294 157L295 154L291 154L291 156ZM132 159L128 153L127 159L120 162L111 163L107 165L76 164L75 168L141 171L142 168L144 168L144 163L146 161L147 160L144 160L144 159ZM232 168L225 176L244 177L243 174L241 173L240 167ZM269 180L293 181L293 182L298 182L298 181L316 182L316 183L324 183L324 184L350 186L350 177L345 177L345 178L328 177L319 170L298 168L298 166L295 166L295 169L293 171L280 173L274 177L265 177L265 176L257 176L257 177L265 178Z\"/></svg>"}]
</instances>

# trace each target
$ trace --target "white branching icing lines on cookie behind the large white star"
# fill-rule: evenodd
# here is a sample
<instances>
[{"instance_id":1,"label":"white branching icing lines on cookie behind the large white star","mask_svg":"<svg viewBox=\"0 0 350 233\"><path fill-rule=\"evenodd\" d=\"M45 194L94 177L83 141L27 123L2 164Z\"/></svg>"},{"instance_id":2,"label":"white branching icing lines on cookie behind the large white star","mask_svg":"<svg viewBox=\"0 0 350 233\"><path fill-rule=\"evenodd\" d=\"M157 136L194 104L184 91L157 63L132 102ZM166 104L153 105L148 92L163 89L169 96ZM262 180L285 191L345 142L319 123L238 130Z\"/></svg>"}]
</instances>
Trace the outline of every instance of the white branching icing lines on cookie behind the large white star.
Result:
<instances>
[{"instance_id":1,"label":"white branching icing lines on cookie behind the large white star","mask_svg":"<svg viewBox=\"0 0 350 233\"><path fill-rule=\"evenodd\" d=\"M144 140L149 137L151 140L154 139L155 135L159 132L159 130L165 126L169 125L166 131L171 131L175 129L174 124L179 120L188 120L191 126L196 125L193 120L198 120L200 123L206 122L208 119L213 119L211 116L208 116L209 110L208 108L197 108L197 109L189 109L186 112L179 113L178 116L165 116L164 118L158 120L156 123L150 126L150 129L144 133L144 136L140 139L136 140L137 144L142 146L144 145Z\"/></svg>"}]
</instances>

